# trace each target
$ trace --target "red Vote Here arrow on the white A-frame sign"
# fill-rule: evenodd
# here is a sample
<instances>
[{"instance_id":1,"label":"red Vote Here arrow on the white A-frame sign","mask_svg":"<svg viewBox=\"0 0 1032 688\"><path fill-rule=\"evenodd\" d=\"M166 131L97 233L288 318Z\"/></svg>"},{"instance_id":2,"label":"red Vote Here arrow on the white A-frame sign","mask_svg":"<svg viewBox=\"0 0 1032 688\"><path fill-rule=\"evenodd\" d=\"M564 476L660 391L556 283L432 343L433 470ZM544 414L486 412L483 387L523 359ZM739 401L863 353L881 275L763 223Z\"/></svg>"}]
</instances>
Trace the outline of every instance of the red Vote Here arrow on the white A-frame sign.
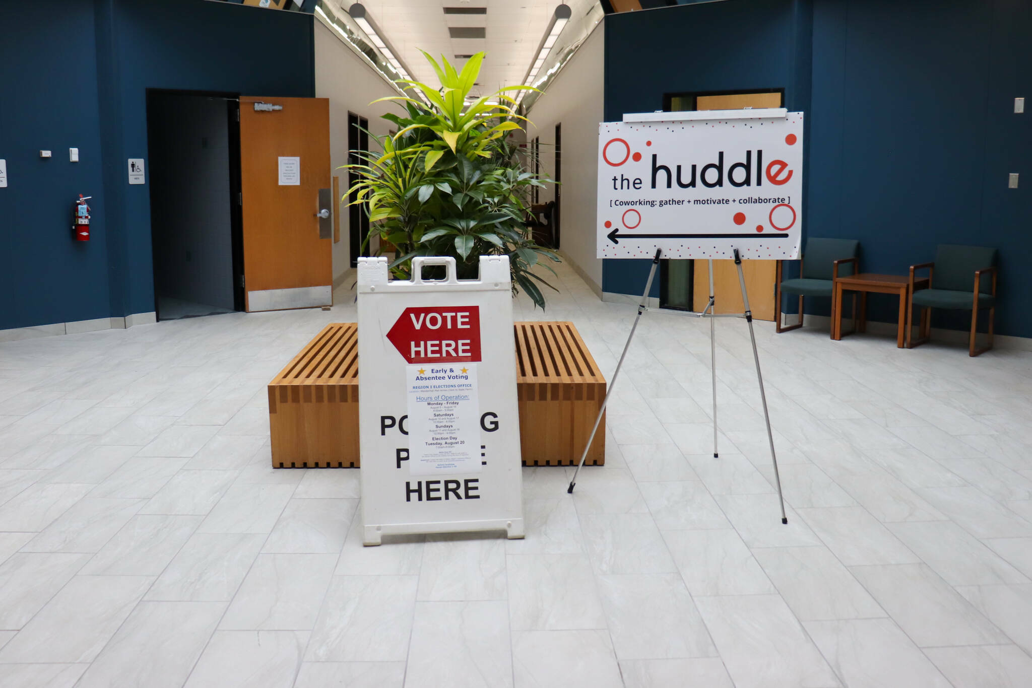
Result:
<instances>
[{"instance_id":1,"label":"red Vote Here arrow on the white A-frame sign","mask_svg":"<svg viewBox=\"0 0 1032 688\"><path fill-rule=\"evenodd\" d=\"M409 363L480 360L480 306L406 308L387 332Z\"/></svg>"}]
</instances>

